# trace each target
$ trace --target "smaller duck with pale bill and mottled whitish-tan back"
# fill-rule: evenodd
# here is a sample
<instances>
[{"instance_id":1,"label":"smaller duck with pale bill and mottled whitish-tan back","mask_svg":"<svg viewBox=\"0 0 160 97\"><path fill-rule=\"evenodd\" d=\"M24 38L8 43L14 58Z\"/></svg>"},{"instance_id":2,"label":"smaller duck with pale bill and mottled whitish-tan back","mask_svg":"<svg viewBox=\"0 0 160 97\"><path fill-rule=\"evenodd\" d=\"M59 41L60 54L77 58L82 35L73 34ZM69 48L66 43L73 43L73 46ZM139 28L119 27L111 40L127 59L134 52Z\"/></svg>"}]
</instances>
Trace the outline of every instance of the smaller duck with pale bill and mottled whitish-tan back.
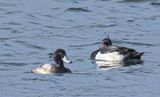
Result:
<instances>
[{"instance_id":1,"label":"smaller duck with pale bill and mottled whitish-tan back","mask_svg":"<svg viewBox=\"0 0 160 97\"><path fill-rule=\"evenodd\" d=\"M52 74L52 73L72 73L72 71L64 66L64 62L72 63L67 57L64 49L57 49L54 53L50 53L55 63L43 64L32 70L32 73Z\"/></svg>"}]
</instances>

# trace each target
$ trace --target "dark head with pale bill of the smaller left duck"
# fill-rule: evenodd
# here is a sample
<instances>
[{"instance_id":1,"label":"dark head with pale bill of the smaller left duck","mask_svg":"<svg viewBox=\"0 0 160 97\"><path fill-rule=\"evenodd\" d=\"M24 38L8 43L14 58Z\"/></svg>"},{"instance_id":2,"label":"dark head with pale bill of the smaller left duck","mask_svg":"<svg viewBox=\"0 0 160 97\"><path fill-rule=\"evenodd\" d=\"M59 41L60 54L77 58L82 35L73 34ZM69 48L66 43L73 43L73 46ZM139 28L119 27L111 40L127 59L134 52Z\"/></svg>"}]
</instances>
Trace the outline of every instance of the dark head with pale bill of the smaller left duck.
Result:
<instances>
[{"instance_id":1,"label":"dark head with pale bill of the smaller left duck","mask_svg":"<svg viewBox=\"0 0 160 97\"><path fill-rule=\"evenodd\" d=\"M57 63L61 62L66 62L66 63L72 63L69 58L66 55L66 52L64 49L57 49L53 55L52 55L54 61Z\"/></svg>"}]
</instances>

